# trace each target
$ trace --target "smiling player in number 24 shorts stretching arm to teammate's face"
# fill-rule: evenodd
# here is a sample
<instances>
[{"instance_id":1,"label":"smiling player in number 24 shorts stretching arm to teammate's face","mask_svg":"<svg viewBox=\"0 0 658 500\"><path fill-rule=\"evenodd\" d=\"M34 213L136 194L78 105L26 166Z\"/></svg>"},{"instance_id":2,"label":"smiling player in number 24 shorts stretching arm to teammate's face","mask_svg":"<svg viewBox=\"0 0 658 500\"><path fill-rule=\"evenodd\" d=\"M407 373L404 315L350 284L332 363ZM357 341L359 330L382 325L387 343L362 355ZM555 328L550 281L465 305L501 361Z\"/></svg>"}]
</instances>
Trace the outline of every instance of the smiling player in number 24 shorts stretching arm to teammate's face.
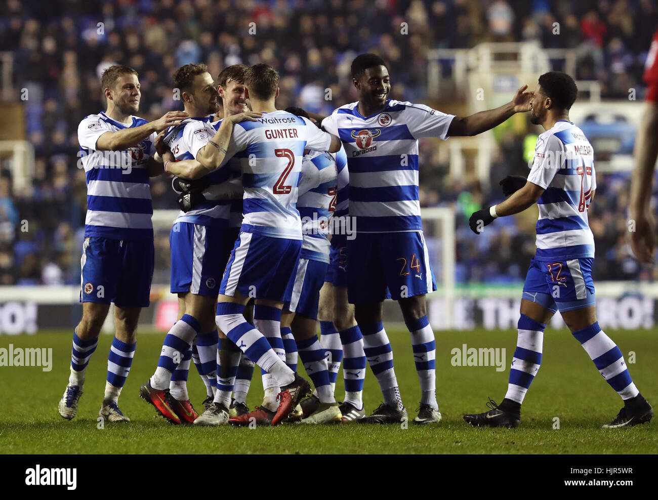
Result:
<instances>
[{"instance_id":1,"label":"smiling player in number 24 shorts stretching arm to teammate's face","mask_svg":"<svg viewBox=\"0 0 658 500\"><path fill-rule=\"evenodd\" d=\"M356 224L356 238L347 241L347 293L355 305L365 355L384 395L384 403L358 422L407 418L382 324L387 286L411 334L420 380L420 412L413 422L438 422L436 348L425 301L436 285L420 222L418 139L480 134L516 112L529 111L531 95L523 93L524 86L511 102L461 118L388 99L391 79L377 55L357 56L351 73L359 101L336 109L322 127L340 136L347 152L349 215Z\"/></svg>"}]
</instances>

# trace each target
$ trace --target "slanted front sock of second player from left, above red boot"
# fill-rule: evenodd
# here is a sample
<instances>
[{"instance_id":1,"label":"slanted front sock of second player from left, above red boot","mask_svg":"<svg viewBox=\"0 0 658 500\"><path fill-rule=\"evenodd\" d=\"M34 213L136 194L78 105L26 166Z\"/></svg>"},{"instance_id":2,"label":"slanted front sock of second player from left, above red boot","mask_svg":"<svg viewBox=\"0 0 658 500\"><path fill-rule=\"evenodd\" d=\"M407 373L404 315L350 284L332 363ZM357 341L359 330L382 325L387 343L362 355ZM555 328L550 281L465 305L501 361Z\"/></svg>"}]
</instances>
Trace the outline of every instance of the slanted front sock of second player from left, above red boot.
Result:
<instances>
[{"instance_id":1,"label":"slanted front sock of second player from left, above red boot","mask_svg":"<svg viewBox=\"0 0 658 500\"><path fill-rule=\"evenodd\" d=\"M151 376L151 387L164 391L169 388L172 373L190 350L201 324L190 314L183 314L166 334L163 349L155 373Z\"/></svg>"}]
</instances>

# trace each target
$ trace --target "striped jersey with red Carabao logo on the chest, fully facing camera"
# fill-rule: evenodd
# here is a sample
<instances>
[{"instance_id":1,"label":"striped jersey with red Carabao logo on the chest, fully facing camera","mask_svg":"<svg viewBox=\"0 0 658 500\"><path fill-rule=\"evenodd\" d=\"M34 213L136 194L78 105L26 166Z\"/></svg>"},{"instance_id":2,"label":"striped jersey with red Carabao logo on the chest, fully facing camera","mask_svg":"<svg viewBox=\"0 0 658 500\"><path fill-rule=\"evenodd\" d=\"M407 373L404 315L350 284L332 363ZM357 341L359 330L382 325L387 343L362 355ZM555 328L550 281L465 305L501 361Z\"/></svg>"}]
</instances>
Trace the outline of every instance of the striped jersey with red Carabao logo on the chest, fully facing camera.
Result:
<instances>
[{"instance_id":1,"label":"striped jersey with red Carabao logo on the chest, fully facing camera","mask_svg":"<svg viewBox=\"0 0 658 500\"><path fill-rule=\"evenodd\" d=\"M361 116L358 104L346 104L322 120L322 128L345 146L349 214L356 217L356 231L422 230L418 139L445 139L455 116L393 99L381 112Z\"/></svg>"}]
</instances>

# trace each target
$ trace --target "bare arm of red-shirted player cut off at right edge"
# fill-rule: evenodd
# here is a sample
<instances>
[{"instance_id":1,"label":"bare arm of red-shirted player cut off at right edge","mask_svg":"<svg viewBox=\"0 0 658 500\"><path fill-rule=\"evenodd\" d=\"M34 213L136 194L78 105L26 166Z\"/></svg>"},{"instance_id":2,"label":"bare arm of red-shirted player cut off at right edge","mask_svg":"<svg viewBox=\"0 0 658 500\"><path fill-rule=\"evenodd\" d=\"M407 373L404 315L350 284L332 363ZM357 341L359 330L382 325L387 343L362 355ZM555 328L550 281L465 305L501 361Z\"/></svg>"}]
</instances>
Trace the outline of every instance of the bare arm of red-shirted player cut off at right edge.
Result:
<instances>
[{"instance_id":1,"label":"bare arm of red-shirted player cut off at right edge","mask_svg":"<svg viewBox=\"0 0 658 500\"><path fill-rule=\"evenodd\" d=\"M647 102L635 139L635 168L630 180L630 218L635 231L630 245L639 261L653 263L655 220L649 201L653 188L653 170L658 158L658 103Z\"/></svg>"}]
</instances>

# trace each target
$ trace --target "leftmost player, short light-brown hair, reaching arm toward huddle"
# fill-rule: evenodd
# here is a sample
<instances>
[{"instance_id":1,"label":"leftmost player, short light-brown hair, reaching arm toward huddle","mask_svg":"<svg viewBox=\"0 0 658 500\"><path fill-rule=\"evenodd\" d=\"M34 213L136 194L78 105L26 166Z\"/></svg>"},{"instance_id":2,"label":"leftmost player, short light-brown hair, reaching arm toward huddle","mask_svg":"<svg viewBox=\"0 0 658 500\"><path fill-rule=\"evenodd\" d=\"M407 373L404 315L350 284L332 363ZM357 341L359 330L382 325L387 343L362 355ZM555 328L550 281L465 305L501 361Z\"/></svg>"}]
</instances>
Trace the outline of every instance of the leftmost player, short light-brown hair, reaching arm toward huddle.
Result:
<instances>
[{"instance_id":1,"label":"leftmost player, short light-brown hair, reaching arm toward huddle","mask_svg":"<svg viewBox=\"0 0 658 500\"><path fill-rule=\"evenodd\" d=\"M101 326L114 303L116 332L107 360L107 383L99 416L130 422L117 402L137 341L137 322L148 307L154 247L149 177L162 173L152 157L155 137L188 114L170 111L147 122L134 116L141 91L138 73L114 65L103 72L107 110L86 116L78 126L81 162L87 180L87 216L82 245L82 320L73 333L70 376L59 414L76 416L85 371Z\"/></svg>"}]
</instances>

